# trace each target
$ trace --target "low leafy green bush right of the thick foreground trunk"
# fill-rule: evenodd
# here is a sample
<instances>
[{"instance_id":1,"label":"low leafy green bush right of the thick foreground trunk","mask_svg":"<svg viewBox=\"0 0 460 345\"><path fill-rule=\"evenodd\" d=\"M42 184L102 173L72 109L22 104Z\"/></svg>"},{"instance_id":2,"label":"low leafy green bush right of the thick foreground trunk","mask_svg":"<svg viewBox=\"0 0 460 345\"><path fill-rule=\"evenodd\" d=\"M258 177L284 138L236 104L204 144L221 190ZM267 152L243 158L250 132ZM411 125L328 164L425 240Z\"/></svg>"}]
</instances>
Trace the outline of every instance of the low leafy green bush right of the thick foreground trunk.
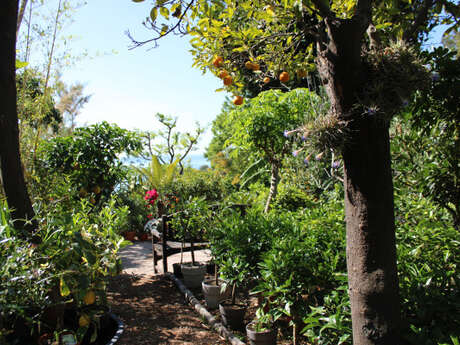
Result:
<instances>
[{"instance_id":1,"label":"low leafy green bush right of the thick foreground trunk","mask_svg":"<svg viewBox=\"0 0 460 345\"><path fill-rule=\"evenodd\" d=\"M460 339L460 242L445 212L426 199L397 199L398 270L404 339Z\"/></svg>"}]
</instances>

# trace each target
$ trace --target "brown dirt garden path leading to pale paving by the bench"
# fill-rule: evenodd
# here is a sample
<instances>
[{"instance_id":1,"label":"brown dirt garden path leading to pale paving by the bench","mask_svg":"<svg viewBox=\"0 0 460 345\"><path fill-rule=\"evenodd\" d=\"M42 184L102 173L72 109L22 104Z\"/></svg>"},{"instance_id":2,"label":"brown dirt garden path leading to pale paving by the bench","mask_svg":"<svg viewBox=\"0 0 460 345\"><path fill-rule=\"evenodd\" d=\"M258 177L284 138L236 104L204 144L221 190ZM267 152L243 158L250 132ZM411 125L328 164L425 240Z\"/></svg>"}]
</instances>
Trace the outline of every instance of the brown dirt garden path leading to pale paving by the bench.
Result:
<instances>
[{"instance_id":1,"label":"brown dirt garden path leading to pale paving by the bench","mask_svg":"<svg viewBox=\"0 0 460 345\"><path fill-rule=\"evenodd\" d=\"M174 283L153 275L150 242L137 242L121 253L124 272L112 278L108 299L125 324L117 345L228 344L202 322ZM200 254L200 260L209 254ZM179 257L168 258L169 270ZM159 263L161 270L162 263Z\"/></svg>"}]
</instances>

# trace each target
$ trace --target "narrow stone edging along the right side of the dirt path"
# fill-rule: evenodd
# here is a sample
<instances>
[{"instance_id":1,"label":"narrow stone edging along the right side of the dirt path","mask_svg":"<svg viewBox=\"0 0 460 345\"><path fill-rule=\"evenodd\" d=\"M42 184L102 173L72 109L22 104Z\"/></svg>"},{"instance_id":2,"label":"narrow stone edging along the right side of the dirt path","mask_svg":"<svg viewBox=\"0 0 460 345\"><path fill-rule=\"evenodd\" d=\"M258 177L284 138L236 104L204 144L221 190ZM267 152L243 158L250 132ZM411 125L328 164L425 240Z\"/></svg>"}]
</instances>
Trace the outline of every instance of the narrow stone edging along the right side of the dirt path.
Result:
<instances>
[{"instance_id":1,"label":"narrow stone edging along the right side of the dirt path","mask_svg":"<svg viewBox=\"0 0 460 345\"><path fill-rule=\"evenodd\" d=\"M165 276L177 285L179 290L184 294L185 300L195 308L198 314L200 314L200 316L202 316L217 333L227 339L232 345L246 345L240 339L235 337L232 332L225 328L224 325L218 322L217 319L212 316L211 313L196 299L193 293L185 287L184 283L182 283L179 278L172 273L166 273Z\"/></svg>"}]
</instances>

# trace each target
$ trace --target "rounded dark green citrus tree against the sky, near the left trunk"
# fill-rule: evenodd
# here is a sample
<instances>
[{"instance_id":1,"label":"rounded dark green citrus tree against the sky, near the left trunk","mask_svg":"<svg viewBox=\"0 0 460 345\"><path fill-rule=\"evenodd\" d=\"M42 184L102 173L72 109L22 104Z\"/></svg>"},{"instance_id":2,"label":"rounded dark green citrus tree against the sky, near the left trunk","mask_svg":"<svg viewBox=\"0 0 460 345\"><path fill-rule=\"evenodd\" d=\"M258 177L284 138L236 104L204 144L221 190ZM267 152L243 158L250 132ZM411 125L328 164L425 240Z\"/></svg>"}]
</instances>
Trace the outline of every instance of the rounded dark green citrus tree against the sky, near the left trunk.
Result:
<instances>
[{"instance_id":1,"label":"rounded dark green citrus tree against the sky, near the left trunk","mask_svg":"<svg viewBox=\"0 0 460 345\"><path fill-rule=\"evenodd\" d=\"M135 133L102 122L44 143L37 165L43 181L50 173L66 176L73 185L73 195L96 204L107 200L127 175L118 155L140 148Z\"/></svg>"}]
</instances>

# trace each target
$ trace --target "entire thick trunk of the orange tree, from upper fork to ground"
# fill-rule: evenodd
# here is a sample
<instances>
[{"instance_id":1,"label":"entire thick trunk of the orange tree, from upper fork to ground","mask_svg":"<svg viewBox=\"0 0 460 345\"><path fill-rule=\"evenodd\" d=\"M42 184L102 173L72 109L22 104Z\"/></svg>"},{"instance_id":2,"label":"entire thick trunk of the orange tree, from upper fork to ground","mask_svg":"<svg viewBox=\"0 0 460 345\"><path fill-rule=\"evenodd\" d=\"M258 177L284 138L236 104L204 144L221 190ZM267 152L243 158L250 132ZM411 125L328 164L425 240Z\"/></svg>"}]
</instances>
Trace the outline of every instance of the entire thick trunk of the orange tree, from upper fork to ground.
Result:
<instances>
[{"instance_id":1,"label":"entire thick trunk of the orange tree, from upper fork to ground","mask_svg":"<svg viewBox=\"0 0 460 345\"><path fill-rule=\"evenodd\" d=\"M317 66L331 114L351 129L342 153L353 344L398 345L400 307L389 124L354 110L367 77L361 49L369 22L361 19L324 21Z\"/></svg>"}]
</instances>

